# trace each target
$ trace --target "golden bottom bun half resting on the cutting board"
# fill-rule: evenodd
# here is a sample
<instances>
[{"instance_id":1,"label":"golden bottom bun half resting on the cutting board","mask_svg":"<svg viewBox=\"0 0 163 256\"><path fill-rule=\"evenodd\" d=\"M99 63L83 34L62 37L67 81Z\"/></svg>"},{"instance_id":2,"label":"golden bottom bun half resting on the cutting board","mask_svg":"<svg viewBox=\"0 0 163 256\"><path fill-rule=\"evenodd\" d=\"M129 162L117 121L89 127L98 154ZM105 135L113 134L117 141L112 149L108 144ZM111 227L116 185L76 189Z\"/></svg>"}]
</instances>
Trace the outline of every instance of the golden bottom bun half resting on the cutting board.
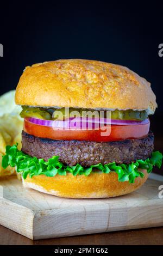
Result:
<instances>
[{"instance_id":1,"label":"golden bottom bun half resting on the cutting board","mask_svg":"<svg viewBox=\"0 0 163 256\"><path fill-rule=\"evenodd\" d=\"M23 180L25 187L34 188L44 193L67 198L108 198L128 194L137 190L148 178L146 170L141 170L145 176L136 178L134 184L128 181L118 181L115 172L109 174L91 173L89 176L73 176L68 173L66 176L56 175L47 177L45 175L27 177Z\"/></svg>"}]
</instances>

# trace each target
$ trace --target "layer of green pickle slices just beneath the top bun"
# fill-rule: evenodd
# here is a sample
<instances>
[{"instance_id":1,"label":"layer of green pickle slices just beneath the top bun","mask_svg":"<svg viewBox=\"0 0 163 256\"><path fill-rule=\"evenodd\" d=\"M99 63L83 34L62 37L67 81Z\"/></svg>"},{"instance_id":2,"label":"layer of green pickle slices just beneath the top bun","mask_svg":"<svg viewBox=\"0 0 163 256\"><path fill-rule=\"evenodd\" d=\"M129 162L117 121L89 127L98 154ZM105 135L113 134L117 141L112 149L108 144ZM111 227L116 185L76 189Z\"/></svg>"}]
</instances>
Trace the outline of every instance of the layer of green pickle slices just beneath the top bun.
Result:
<instances>
[{"instance_id":1,"label":"layer of green pickle slices just beneath the top bun","mask_svg":"<svg viewBox=\"0 0 163 256\"><path fill-rule=\"evenodd\" d=\"M69 115L67 111L65 111L65 108L56 109L56 108L28 107L28 106L22 106L22 108L23 108L22 112L20 113L20 116L22 118L33 117L33 118L39 118L39 119L54 120L55 118L59 118L59 116L57 115L58 111L61 112L62 114L61 116L64 119L69 118ZM91 111L93 113L95 110L84 109L84 108L72 108L72 107L69 108L69 114L71 114L73 111L78 111L79 116L82 117L83 111ZM53 118L54 116L55 118ZM105 117L106 117L106 112L105 112ZM134 111L132 109L128 109L124 111L116 109L114 111L111 111L111 119L143 121L147 118L148 118L148 115L146 111Z\"/></svg>"}]
</instances>

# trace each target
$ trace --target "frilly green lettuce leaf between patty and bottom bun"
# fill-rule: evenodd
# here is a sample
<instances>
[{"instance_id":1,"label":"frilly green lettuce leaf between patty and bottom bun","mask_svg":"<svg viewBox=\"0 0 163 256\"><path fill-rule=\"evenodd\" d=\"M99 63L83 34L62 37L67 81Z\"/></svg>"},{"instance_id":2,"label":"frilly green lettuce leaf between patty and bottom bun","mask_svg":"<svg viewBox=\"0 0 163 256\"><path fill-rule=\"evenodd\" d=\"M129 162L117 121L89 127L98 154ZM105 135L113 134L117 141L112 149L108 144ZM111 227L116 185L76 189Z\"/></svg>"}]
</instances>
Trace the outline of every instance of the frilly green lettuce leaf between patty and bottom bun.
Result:
<instances>
[{"instance_id":1,"label":"frilly green lettuce leaf between patty and bottom bun","mask_svg":"<svg viewBox=\"0 0 163 256\"><path fill-rule=\"evenodd\" d=\"M130 164L116 164L115 162L102 164L98 163L90 167L83 167L79 163L76 166L66 166L59 161L59 156L53 156L47 162L43 159L37 159L24 154L17 149L17 144L6 147L6 153L2 159L2 167L5 169L8 166L16 167L17 173L22 173L23 179L27 178L27 175L32 178L34 175L44 174L48 177L53 177L56 174L66 175L71 173L72 175L90 175L91 172L95 172L95 169L99 169L101 172L108 174L110 172L116 172L118 175L118 181L129 181L134 183L137 177L143 178L144 174L140 171L146 169L147 173L151 173L153 166L161 167L162 154L159 151L152 153L151 159L137 160Z\"/></svg>"}]
</instances>

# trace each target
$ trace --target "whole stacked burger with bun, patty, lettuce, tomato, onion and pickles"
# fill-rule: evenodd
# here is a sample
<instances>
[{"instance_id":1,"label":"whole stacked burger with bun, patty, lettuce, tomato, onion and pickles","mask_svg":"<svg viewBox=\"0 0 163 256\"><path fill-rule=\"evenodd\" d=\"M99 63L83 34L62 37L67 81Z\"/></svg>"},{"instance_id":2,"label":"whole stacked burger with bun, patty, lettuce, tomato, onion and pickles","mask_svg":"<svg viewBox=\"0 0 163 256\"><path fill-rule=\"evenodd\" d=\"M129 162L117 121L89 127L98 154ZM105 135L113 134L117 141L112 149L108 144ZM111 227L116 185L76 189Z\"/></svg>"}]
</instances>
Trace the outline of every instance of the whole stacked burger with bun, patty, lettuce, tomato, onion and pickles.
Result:
<instances>
[{"instance_id":1,"label":"whole stacked burger with bun, patty, lettuce, tomato, onion and pickles","mask_svg":"<svg viewBox=\"0 0 163 256\"><path fill-rule=\"evenodd\" d=\"M27 66L15 102L22 149L8 145L2 166L23 186L67 198L109 198L137 190L162 154L153 151L151 84L128 68L85 59Z\"/></svg>"}]
</instances>

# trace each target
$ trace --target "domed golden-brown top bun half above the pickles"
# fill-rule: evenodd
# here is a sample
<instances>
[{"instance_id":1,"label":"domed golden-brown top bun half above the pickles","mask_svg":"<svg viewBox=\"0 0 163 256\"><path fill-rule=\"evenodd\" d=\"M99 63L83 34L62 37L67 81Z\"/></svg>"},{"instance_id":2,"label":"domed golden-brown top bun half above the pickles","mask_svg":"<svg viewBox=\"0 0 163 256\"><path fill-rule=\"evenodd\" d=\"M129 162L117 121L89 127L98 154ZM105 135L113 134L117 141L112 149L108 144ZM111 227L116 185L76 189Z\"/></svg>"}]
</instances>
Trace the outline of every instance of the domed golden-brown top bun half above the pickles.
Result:
<instances>
[{"instance_id":1,"label":"domed golden-brown top bun half above the pickles","mask_svg":"<svg viewBox=\"0 0 163 256\"><path fill-rule=\"evenodd\" d=\"M154 113L151 84L120 65L85 59L62 59L27 66L16 104L102 109L148 109Z\"/></svg>"}]
</instances>

